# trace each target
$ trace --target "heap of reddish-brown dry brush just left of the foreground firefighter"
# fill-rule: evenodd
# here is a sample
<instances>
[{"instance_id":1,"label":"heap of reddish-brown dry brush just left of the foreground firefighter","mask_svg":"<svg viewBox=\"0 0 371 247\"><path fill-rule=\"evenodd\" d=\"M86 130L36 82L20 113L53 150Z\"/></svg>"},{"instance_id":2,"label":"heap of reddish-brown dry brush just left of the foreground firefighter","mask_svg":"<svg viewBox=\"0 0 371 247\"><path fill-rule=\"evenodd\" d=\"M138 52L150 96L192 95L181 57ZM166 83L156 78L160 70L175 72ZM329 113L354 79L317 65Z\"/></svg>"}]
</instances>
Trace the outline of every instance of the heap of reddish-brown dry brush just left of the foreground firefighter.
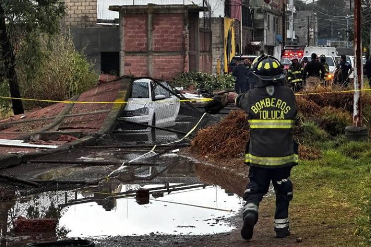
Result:
<instances>
[{"instance_id":1,"label":"heap of reddish-brown dry brush just left of the foreground firefighter","mask_svg":"<svg viewBox=\"0 0 371 247\"><path fill-rule=\"evenodd\" d=\"M219 124L199 130L191 151L214 159L238 157L245 152L248 137L246 114L242 110L232 111Z\"/></svg>"}]
</instances>

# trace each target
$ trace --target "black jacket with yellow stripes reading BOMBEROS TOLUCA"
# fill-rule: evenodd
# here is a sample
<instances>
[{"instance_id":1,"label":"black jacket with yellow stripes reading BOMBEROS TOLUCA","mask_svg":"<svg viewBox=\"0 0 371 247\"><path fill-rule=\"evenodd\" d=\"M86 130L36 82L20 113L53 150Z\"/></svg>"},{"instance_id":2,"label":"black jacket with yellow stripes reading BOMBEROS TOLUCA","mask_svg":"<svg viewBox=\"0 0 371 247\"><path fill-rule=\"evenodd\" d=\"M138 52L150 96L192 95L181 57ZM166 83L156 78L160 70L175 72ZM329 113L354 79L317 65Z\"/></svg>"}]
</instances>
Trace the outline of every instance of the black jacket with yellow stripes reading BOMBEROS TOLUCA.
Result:
<instances>
[{"instance_id":1,"label":"black jacket with yellow stripes reading BOMBEROS TOLUCA","mask_svg":"<svg viewBox=\"0 0 371 247\"><path fill-rule=\"evenodd\" d=\"M250 125L245 163L271 168L297 165L298 145L292 131L297 113L295 95L283 85L275 85L272 96L268 91L268 87L256 87L236 98Z\"/></svg>"}]
</instances>

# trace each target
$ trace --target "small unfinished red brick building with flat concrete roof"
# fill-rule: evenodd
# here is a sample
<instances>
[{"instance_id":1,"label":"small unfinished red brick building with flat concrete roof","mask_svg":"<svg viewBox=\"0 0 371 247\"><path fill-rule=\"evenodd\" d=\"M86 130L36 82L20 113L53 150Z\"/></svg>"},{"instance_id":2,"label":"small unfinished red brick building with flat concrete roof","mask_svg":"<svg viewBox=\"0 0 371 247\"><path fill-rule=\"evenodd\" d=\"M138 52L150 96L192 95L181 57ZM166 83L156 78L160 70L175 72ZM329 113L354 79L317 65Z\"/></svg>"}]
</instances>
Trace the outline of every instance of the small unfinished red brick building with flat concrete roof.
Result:
<instances>
[{"instance_id":1,"label":"small unfinished red brick building with flat concrete roof","mask_svg":"<svg viewBox=\"0 0 371 247\"><path fill-rule=\"evenodd\" d=\"M168 80L200 68L210 72L211 51L200 52L210 45L200 48L198 23L206 8L148 4L109 9L120 13L120 75ZM210 35L203 39L210 43Z\"/></svg>"}]
</instances>

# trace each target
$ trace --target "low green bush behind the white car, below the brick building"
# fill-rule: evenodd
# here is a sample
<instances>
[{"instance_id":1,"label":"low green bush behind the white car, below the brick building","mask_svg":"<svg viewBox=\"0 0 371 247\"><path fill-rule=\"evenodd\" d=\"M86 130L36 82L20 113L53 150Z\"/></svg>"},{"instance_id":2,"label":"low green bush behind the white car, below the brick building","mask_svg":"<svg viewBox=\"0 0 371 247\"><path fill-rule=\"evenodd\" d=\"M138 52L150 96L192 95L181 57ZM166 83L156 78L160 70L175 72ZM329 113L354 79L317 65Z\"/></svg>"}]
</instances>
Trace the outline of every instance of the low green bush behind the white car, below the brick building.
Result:
<instances>
[{"instance_id":1,"label":"low green bush behind the white car, below the brick building","mask_svg":"<svg viewBox=\"0 0 371 247\"><path fill-rule=\"evenodd\" d=\"M234 77L231 74L211 75L203 72L189 71L179 74L173 81L174 86L184 88L205 88L208 90L234 88Z\"/></svg>"}]
</instances>

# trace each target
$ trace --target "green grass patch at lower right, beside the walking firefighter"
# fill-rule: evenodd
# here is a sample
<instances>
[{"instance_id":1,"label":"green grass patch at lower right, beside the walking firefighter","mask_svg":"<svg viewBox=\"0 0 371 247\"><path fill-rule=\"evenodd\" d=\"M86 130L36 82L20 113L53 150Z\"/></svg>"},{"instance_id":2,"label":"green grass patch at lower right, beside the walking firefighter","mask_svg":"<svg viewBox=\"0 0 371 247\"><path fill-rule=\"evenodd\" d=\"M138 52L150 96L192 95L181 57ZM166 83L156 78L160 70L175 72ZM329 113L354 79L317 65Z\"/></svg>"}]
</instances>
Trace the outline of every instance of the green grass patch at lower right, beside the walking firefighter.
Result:
<instances>
[{"instance_id":1,"label":"green grass patch at lower right, beside the walking firefighter","mask_svg":"<svg viewBox=\"0 0 371 247\"><path fill-rule=\"evenodd\" d=\"M331 229L329 246L370 246L371 144L338 136L316 146L322 158L301 161L292 170L291 218L315 226L304 235Z\"/></svg>"}]
</instances>

